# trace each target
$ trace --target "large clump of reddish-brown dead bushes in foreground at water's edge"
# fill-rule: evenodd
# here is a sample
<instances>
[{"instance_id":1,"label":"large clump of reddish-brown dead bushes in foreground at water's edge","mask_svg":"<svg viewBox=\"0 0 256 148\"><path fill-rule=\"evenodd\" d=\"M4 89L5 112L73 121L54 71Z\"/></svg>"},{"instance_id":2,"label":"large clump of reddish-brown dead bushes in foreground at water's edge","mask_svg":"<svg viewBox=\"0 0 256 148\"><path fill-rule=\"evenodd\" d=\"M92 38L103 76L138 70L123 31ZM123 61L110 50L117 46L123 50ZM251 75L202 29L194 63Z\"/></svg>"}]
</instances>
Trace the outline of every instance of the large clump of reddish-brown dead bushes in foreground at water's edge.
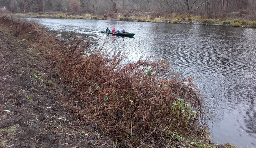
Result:
<instances>
[{"instance_id":1,"label":"large clump of reddish-brown dead bushes in foreground at water's edge","mask_svg":"<svg viewBox=\"0 0 256 148\"><path fill-rule=\"evenodd\" d=\"M172 71L167 60L128 62L121 50L92 52L81 40L60 47L55 66L78 98L79 106L70 107L78 121L96 119L118 142L151 143L196 129L202 104L193 78Z\"/></svg>"}]
</instances>

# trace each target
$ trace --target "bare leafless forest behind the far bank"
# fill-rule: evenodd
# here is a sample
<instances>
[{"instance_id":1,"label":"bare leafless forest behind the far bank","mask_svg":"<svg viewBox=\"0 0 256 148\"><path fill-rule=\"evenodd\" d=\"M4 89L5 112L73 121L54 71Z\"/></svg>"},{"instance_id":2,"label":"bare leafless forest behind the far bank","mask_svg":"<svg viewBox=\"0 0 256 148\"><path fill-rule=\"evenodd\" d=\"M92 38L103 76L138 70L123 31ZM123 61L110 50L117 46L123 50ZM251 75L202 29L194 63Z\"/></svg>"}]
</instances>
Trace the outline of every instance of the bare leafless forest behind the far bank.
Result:
<instances>
[{"instance_id":1,"label":"bare leafless forest behind the far bank","mask_svg":"<svg viewBox=\"0 0 256 148\"><path fill-rule=\"evenodd\" d=\"M219 17L227 13L255 13L256 0L0 0L0 6L16 13L108 12L194 13Z\"/></svg>"}]
</instances>

